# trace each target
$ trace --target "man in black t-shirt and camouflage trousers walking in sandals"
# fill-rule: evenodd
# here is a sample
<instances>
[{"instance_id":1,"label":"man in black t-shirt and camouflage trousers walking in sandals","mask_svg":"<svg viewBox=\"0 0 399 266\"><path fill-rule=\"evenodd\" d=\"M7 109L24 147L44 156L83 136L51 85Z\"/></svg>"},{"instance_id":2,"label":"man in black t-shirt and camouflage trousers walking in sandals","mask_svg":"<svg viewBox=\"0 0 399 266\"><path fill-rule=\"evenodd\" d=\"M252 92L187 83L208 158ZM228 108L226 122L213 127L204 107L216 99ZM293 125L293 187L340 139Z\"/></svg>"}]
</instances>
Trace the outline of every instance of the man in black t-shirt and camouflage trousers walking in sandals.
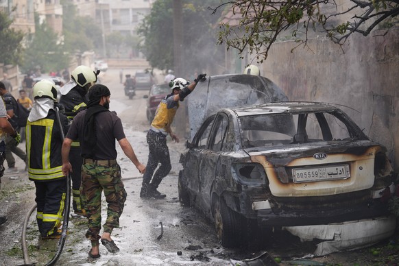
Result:
<instances>
[{"instance_id":1,"label":"man in black t-shirt and camouflage trousers walking in sandals","mask_svg":"<svg viewBox=\"0 0 399 266\"><path fill-rule=\"evenodd\" d=\"M88 99L87 109L75 116L64 139L62 171L65 175L72 171L69 151L71 143L79 140L82 147L81 155L84 158L80 195L88 218L86 238L90 239L92 246L88 256L99 258L100 239L108 252L119 251L111 239L111 233L114 228L119 228L119 217L126 200L121 169L116 160L115 139L140 173L145 172L145 165L138 161L132 145L125 137L121 119L108 110L110 90L104 85L96 84L88 90ZM108 210L106 223L103 225L104 233L100 237L102 191L108 203Z\"/></svg>"}]
</instances>

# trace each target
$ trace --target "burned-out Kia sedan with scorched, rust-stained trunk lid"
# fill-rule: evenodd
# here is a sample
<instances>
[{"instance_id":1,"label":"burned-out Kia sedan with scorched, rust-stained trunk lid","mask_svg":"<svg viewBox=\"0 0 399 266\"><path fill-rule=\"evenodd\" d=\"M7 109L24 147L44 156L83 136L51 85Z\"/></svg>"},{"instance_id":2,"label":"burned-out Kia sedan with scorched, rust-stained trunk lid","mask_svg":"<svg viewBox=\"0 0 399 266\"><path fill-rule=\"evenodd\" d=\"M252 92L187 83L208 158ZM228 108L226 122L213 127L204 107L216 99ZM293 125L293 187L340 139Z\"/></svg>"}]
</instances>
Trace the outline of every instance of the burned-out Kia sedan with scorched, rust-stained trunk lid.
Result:
<instances>
[{"instance_id":1,"label":"burned-out Kia sedan with scorched, rust-stained trunk lid","mask_svg":"<svg viewBox=\"0 0 399 266\"><path fill-rule=\"evenodd\" d=\"M223 108L186 145L180 202L215 223L224 247L257 236L267 241L272 228L380 218L389 222L378 237L394 233L385 147L333 105L287 101Z\"/></svg>"}]
</instances>

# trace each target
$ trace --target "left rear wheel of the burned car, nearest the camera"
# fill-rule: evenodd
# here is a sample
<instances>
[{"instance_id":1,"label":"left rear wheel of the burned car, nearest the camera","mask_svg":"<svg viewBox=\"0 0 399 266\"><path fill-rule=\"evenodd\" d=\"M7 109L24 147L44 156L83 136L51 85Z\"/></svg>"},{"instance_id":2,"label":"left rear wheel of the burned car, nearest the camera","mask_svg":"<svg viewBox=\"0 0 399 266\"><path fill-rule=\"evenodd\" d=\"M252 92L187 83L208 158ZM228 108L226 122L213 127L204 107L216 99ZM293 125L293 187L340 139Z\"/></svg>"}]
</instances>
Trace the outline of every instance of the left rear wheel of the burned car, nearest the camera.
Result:
<instances>
[{"instance_id":1,"label":"left rear wheel of the burned car, nearest the camera","mask_svg":"<svg viewBox=\"0 0 399 266\"><path fill-rule=\"evenodd\" d=\"M224 199L217 199L213 205L217 238L223 247L239 247L241 241L241 216L228 208Z\"/></svg>"}]
</instances>

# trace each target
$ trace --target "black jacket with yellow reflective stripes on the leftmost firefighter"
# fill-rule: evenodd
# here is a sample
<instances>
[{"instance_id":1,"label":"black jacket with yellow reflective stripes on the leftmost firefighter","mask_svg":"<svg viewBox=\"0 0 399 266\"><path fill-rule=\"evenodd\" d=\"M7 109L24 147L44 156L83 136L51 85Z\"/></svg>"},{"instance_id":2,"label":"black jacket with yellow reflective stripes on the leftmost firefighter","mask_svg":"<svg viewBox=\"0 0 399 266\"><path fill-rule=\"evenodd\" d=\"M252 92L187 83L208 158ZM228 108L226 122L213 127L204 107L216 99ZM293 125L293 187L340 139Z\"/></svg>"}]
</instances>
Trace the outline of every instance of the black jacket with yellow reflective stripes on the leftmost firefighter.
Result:
<instances>
[{"instance_id":1,"label":"black jacket with yellow reflective stripes on the leftmost firefighter","mask_svg":"<svg viewBox=\"0 0 399 266\"><path fill-rule=\"evenodd\" d=\"M66 134L68 121L60 114L62 130ZM56 120L56 111L49 110L45 119L27 120L25 128L28 178L33 181L51 181L64 178L62 174L62 135Z\"/></svg>"}]
</instances>

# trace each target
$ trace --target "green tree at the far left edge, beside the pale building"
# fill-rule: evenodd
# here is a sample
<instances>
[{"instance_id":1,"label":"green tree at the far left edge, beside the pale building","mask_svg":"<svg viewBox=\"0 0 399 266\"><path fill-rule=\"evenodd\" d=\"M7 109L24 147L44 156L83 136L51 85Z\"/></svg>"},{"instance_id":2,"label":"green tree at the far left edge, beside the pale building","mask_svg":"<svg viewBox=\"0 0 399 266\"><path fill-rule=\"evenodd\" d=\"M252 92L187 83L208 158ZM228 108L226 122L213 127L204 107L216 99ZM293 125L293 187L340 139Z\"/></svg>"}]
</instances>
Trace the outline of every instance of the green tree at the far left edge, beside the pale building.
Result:
<instances>
[{"instance_id":1,"label":"green tree at the far left edge, beside the pale building","mask_svg":"<svg viewBox=\"0 0 399 266\"><path fill-rule=\"evenodd\" d=\"M10 28L12 20L5 12L0 12L0 62L19 64L22 60L23 32Z\"/></svg>"}]
</instances>

